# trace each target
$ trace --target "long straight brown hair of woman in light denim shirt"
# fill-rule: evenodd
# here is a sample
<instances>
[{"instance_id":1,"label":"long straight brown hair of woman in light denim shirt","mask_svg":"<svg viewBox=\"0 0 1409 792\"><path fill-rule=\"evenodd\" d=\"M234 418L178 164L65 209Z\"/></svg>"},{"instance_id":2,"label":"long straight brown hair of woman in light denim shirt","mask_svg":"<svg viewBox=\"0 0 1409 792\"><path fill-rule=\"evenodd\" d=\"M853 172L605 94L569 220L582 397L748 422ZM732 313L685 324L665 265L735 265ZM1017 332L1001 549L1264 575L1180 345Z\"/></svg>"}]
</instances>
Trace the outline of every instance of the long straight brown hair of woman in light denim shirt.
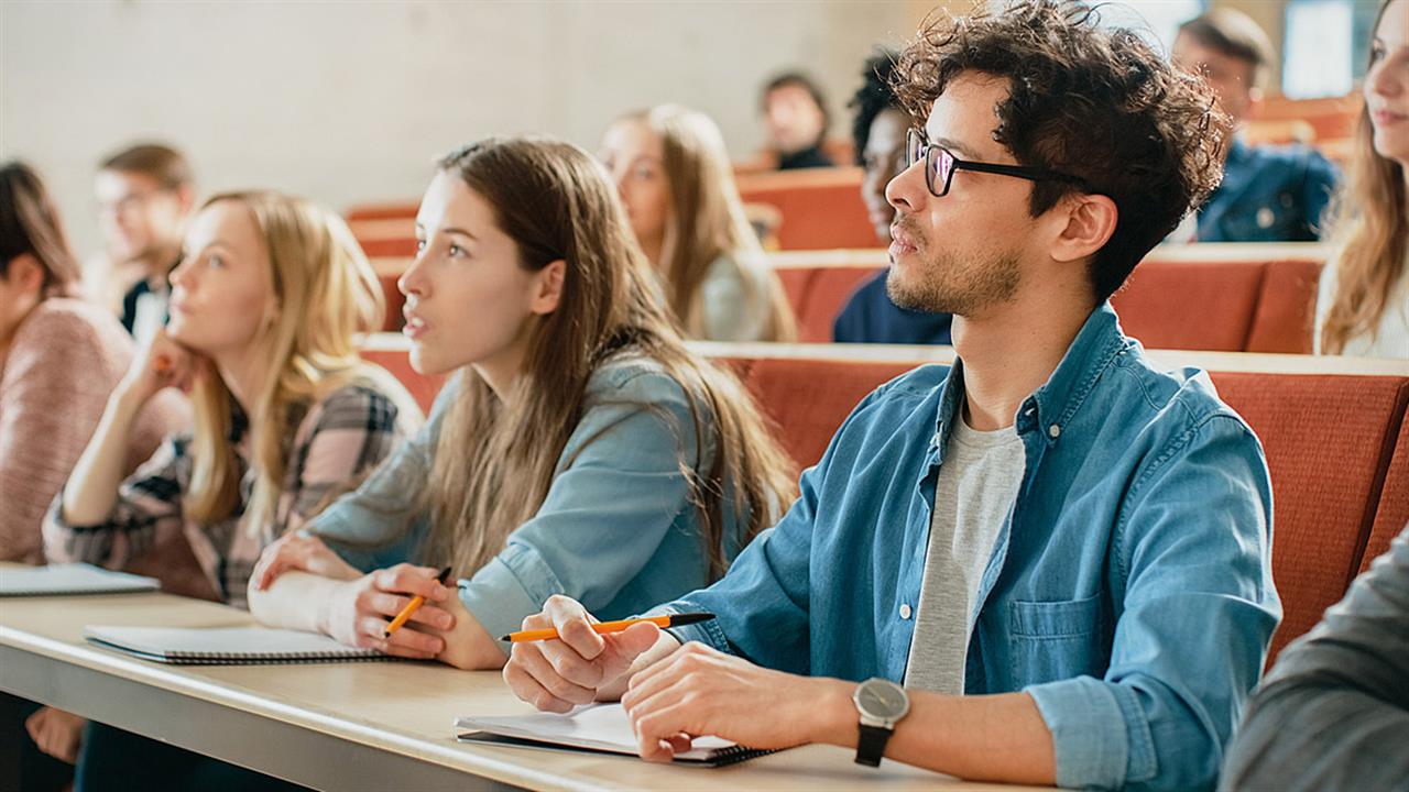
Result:
<instances>
[{"instance_id":1,"label":"long straight brown hair of woman in light denim shirt","mask_svg":"<svg viewBox=\"0 0 1409 792\"><path fill-rule=\"evenodd\" d=\"M738 379L686 349L602 166L565 142L509 138L459 149L441 168L493 207L526 271L554 261L566 269L558 309L531 320L528 349L504 400L473 371L458 375L426 490L426 557L449 558L468 576L503 551L548 495L592 372L640 355L685 390L699 454L714 448L707 471L695 471L679 444L678 454L710 571L723 574L724 514L740 516L745 541L772 524L795 492L792 464ZM657 404L634 406L679 423Z\"/></svg>"}]
</instances>

